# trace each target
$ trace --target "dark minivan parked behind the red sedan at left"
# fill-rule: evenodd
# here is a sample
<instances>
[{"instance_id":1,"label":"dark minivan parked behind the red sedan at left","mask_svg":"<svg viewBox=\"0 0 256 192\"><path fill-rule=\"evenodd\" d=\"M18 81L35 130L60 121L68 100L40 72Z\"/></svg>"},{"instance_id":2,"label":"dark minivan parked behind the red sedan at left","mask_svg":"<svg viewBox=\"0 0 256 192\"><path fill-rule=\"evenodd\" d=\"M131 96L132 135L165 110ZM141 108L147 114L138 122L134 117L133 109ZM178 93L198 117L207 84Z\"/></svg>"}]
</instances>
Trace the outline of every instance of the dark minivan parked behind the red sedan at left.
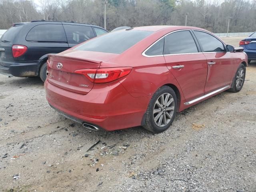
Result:
<instances>
[{"instance_id":1,"label":"dark minivan parked behind the red sedan at left","mask_svg":"<svg viewBox=\"0 0 256 192\"><path fill-rule=\"evenodd\" d=\"M74 22L14 23L0 38L0 73L46 79L48 54L60 53L108 31Z\"/></svg>"}]
</instances>

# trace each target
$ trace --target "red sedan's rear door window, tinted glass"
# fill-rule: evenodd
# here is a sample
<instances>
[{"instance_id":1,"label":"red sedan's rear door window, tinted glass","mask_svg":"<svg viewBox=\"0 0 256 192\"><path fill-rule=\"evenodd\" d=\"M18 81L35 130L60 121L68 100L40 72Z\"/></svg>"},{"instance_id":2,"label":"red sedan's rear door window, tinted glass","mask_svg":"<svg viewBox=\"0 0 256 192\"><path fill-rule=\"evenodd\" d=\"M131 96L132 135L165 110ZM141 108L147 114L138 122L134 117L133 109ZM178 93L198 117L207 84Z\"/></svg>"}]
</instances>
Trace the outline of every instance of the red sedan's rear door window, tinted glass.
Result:
<instances>
[{"instance_id":1,"label":"red sedan's rear door window, tinted glass","mask_svg":"<svg viewBox=\"0 0 256 192\"><path fill-rule=\"evenodd\" d=\"M164 54L196 53L198 49L189 31L174 32L164 37Z\"/></svg>"}]
</instances>

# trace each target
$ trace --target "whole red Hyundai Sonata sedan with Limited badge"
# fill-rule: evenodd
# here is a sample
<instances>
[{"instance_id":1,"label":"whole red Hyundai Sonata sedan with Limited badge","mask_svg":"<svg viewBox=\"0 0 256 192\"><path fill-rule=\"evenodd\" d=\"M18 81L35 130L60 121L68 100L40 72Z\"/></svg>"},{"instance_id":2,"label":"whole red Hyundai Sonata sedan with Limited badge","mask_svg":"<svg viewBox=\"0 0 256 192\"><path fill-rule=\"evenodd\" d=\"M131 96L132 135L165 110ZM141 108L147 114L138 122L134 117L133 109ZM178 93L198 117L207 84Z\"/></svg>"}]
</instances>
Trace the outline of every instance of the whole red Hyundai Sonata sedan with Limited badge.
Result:
<instances>
[{"instance_id":1,"label":"whole red Hyundai Sonata sedan with Limited badge","mask_svg":"<svg viewBox=\"0 0 256 192\"><path fill-rule=\"evenodd\" d=\"M176 112L244 84L247 55L196 27L127 28L48 59L46 98L93 130L170 127Z\"/></svg>"}]
</instances>

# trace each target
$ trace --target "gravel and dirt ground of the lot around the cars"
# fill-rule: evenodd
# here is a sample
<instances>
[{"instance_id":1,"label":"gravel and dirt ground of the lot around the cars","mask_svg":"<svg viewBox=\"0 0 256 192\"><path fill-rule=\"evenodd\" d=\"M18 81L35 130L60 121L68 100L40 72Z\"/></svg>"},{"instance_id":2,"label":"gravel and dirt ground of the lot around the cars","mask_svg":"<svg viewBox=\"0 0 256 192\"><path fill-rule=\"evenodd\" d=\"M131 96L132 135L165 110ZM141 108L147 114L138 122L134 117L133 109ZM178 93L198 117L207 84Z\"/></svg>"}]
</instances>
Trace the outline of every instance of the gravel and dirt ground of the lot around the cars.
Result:
<instances>
[{"instance_id":1,"label":"gravel and dirt ground of the lot around the cars","mask_svg":"<svg viewBox=\"0 0 256 192\"><path fill-rule=\"evenodd\" d=\"M166 132L94 132L50 108L38 78L0 75L0 191L255 192L255 84L252 62L240 92L180 112Z\"/></svg>"}]
</instances>

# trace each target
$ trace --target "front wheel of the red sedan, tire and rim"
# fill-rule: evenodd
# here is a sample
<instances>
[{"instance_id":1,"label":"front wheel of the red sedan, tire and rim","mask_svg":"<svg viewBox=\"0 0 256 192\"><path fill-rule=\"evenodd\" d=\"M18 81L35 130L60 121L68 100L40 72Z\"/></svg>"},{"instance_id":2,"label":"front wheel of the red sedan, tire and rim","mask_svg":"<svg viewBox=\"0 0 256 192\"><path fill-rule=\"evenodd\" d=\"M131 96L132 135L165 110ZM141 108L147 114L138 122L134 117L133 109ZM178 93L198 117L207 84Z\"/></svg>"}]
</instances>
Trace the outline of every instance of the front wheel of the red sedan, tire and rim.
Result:
<instances>
[{"instance_id":1,"label":"front wheel of the red sedan, tire and rim","mask_svg":"<svg viewBox=\"0 0 256 192\"><path fill-rule=\"evenodd\" d=\"M241 63L238 69L236 70L236 74L234 76L231 88L228 91L236 93L242 89L244 85L245 72L246 72L246 68Z\"/></svg>"}]
</instances>

